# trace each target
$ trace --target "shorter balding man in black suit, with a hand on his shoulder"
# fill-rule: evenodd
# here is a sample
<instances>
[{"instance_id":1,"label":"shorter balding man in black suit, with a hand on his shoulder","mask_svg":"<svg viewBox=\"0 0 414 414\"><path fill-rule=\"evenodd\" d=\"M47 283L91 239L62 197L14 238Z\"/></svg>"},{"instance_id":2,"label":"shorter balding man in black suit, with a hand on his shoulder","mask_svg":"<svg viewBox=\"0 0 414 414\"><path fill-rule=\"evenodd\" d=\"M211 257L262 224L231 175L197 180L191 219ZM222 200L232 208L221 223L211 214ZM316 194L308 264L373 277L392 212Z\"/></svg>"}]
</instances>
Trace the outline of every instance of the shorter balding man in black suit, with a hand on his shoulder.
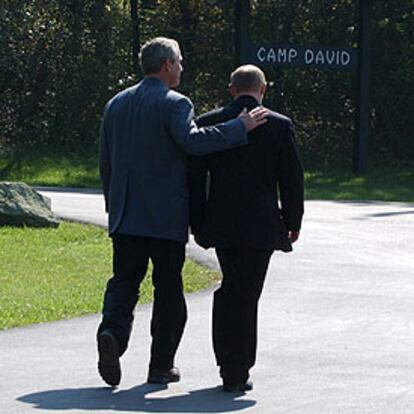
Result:
<instances>
[{"instance_id":1,"label":"shorter balding man in black suit, with a hand on his shoulder","mask_svg":"<svg viewBox=\"0 0 414 414\"><path fill-rule=\"evenodd\" d=\"M245 65L231 74L233 102L197 119L199 126L236 118L261 105L263 72ZM280 205L278 202L280 193ZM249 144L193 157L190 225L195 240L215 247L223 274L214 293L213 346L225 391L246 391L256 358L257 306L274 250L289 252L303 215L303 169L289 118L271 112Z\"/></svg>"}]
</instances>

